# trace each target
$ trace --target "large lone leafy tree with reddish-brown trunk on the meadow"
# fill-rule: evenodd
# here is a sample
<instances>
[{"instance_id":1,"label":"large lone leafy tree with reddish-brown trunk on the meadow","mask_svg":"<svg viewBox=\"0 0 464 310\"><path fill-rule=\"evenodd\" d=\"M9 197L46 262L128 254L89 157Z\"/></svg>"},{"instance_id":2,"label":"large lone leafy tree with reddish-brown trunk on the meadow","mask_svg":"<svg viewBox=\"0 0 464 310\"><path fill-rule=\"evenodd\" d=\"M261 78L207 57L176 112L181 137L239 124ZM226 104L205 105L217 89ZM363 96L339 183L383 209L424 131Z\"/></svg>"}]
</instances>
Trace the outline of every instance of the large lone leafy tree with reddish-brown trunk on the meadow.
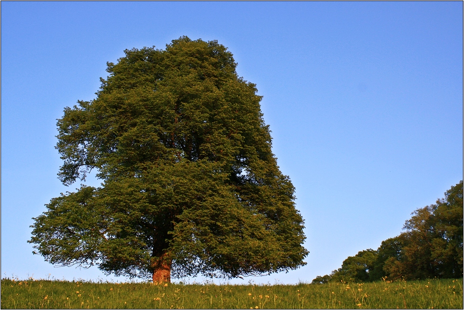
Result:
<instances>
[{"instance_id":1,"label":"large lone leafy tree with reddish-brown trunk on the meadow","mask_svg":"<svg viewBox=\"0 0 464 310\"><path fill-rule=\"evenodd\" d=\"M255 84L217 41L173 40L107 63L97 97L65 108L56 148L65 185L34 218L56 265L152 278L288 271L308 252L294 187L277 166ZM35 253L35 252L34 252Z\"/></svg>"}]
</instances>

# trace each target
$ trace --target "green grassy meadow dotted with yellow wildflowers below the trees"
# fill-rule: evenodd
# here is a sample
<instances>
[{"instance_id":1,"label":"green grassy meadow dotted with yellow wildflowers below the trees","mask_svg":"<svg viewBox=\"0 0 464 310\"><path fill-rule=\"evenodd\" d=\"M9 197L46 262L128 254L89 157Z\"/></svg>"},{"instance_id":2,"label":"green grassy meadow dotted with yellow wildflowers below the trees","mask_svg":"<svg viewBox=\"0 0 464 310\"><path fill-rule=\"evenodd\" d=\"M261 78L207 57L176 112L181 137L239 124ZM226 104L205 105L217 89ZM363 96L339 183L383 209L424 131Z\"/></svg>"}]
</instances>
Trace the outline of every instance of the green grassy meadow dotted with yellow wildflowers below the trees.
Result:
<instances>
[{"instance_id":1,"label":"green grassy meadow dotted with yellow wildflowers below the trees","mask_svg":"<svg viewBox=\"0 0 464 310\"><path fill-rule=\"evenodd\" d=\"M1 309L463 309L463 279L324 285L1 280Z\"/></svg>"}]
</instances>

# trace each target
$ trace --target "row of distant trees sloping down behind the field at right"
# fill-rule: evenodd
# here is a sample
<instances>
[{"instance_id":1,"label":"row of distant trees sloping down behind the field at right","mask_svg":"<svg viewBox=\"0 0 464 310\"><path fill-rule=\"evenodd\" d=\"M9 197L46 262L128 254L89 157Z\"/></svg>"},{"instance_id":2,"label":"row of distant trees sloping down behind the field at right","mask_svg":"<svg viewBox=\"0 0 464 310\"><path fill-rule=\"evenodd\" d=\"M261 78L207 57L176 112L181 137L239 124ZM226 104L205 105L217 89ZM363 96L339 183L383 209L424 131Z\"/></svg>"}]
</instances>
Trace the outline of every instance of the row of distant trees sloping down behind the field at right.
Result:
<instances>
[{"instance_id":1,"label":"row of distant trees sloping down behind the field at right","mask_svg":"<svg viewBox=\"0 0 464 310\"><path fill-rule=\"evenodd\" d=\"M444 199L412 215L405 232L383 241L377 250L348 257L341 268L312 283L463 277L463 181Z\"/></svg>"}]
</instances>

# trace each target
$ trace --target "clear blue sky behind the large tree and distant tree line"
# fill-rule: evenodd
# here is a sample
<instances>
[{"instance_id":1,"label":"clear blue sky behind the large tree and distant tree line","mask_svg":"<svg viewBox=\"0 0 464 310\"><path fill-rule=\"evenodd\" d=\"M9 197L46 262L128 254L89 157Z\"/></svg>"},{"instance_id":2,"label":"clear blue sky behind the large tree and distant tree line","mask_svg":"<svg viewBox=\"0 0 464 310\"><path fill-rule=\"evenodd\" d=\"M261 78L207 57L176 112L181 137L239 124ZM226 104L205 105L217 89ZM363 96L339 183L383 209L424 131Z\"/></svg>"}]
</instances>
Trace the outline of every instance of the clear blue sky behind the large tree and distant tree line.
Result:
<instances>
[{"instance_id":1,"label":"clear blue sky behind the large tree and distant tree line","mask_svg":"<svg viewBox=\"0 0 464 310\"><path fill-rule=\"evenodd\" d=\"M231 283L329 274L463 179L462 1L1 1L1 277L123 281L54 268L29 226L79 187L56 177L63 108L93 99L124 49L182 35L217 39L257 84L305 219L305 267Z\"/></svg>"}]
</instances>

